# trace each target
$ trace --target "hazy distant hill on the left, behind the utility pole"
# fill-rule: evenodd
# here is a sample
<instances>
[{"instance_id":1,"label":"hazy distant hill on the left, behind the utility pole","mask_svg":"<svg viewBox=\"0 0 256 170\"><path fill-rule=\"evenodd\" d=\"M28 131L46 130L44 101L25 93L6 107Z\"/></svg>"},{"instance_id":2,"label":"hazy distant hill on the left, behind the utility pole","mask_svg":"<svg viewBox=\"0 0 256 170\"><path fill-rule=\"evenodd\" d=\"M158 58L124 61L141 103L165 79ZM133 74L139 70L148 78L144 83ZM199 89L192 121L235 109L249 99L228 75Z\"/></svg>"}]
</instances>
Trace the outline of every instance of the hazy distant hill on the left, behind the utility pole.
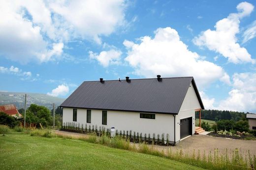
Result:
<instances>
[{"instance_id":1,"label":"hazy distant hill on the left, behind the utility pole","mask_svg":"<svg viewBox=\"0 0 256 170\"><path fill-rule=\"evenodd\" d=\"M24 108L25 94L27 94L27 107L34 103L52 109L53 103L57 107L65 100L65 98L38 93L0 92L0 105L15 104L18 109Z\"/></svg>"}]
</instances>

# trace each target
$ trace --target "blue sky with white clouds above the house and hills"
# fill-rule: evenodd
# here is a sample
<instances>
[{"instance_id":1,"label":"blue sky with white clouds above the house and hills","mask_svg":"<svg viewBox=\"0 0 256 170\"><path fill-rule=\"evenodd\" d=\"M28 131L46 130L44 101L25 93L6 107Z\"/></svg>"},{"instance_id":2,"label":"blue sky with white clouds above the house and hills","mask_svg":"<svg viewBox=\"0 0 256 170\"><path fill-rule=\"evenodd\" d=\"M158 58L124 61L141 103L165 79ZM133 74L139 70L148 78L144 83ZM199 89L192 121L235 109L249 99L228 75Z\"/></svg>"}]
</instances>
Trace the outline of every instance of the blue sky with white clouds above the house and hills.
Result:
<instances>
[{"instance_id":1,"label":"blue sky with white clouds above the house and hills","mask_svg":"<svg viewBox=\"0 0 256 170\"><path fill-rule=\"evenodd\" d=\"M0 91L193 76L206 109L256 112L255 0L0 3Z\"/></svg>"}]
</instances>

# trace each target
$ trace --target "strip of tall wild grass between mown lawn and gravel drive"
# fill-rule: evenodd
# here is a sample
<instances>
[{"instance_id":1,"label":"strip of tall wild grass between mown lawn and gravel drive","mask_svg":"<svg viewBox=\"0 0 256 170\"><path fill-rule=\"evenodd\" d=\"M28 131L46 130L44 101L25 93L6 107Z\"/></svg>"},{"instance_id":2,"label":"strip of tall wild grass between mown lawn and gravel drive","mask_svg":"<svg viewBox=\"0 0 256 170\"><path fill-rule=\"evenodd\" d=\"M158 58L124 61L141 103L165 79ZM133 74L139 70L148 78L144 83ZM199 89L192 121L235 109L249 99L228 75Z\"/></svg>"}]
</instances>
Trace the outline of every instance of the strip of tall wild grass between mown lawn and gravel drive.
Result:
<instances>
[{"instance_id":1,"label":"strip of tall wild grass between mown lawn and gravel drive","mask_svg":"<svg viewBox=\"0 0 256 170\"><path fill-rule=\"evenodd\" d=\"M50 130L31 130L31 136L57 137ZM60 134L58 137L75 139ZM160 156L204 169L248 170L256 168L256 155L251 155L250 151L248 150L246 156L243 157L241 150L237 148L232 151L231 155L228 153L227 149L221 153L218 148L215 148L209 153L206 153L205 151L201 152L199 149L193 150L192 153L184 152L182 149L173 151L172 147L168 147L164 151L163 149L160 150L159 147L155 147L153 145L149 146L145 142L140 144L130 143L129 140L124 139L121 135L110 138L109 133L104 133L101 136L97 136L95 132L92 132L86 137L84 136L78 139L94 144L101 144L114 148Z\"/></svg>"}]
</instances>

